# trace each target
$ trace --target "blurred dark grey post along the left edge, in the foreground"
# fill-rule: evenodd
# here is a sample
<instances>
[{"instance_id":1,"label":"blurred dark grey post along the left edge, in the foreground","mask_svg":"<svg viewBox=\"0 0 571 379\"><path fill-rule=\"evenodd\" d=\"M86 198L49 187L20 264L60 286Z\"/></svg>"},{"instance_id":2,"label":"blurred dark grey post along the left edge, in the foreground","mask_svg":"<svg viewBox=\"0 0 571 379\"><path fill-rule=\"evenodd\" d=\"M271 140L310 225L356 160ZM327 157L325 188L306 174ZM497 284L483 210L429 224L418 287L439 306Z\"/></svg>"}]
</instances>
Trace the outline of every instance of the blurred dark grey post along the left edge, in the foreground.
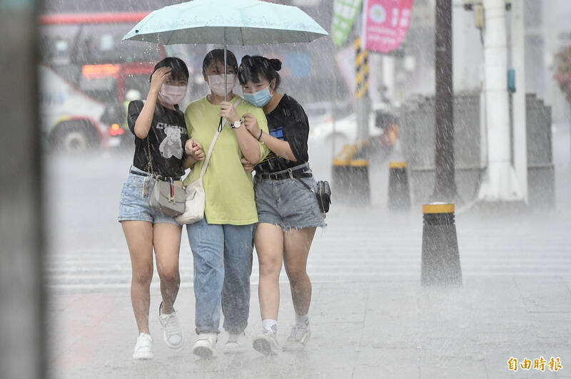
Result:
<instances>
[{"instance_id":1,"label":"blurred dark grey post along the left edge, in the foreground","mask_svg":"<svg viewBox=\"0 0 571 379\"><path fill-rule=\"evenodd\" d=\"M2 378L49 378L44 346L41 136L36 6L0 1L0 368Z\"/></svg>"}]
</instances>

